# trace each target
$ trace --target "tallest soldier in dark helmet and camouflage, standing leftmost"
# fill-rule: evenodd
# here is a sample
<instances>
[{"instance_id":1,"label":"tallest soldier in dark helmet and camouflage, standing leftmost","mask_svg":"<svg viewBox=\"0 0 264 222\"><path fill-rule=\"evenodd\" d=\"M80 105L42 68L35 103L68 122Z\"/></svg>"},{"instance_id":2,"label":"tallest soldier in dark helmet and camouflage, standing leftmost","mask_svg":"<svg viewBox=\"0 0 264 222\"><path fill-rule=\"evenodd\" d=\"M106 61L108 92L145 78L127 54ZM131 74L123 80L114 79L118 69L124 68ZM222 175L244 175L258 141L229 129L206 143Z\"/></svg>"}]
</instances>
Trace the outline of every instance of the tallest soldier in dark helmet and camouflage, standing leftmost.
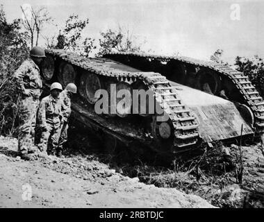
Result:
<instances>
[{"instance_id":1,"label":"tallest soldier in dark helmet and camouflage, standing leftmost","mask_svg":"<svg viewBox=\"0 0 264 222\"><path fill-rule=\"evenodd\" d=\"M42 93L40 64L45 57L44 49L33 47L30 58L25 60L13 75L18 90L18 152L24 160L34 158L31 153L35 151L35 119Z\"/></svg>"}]
</instances>

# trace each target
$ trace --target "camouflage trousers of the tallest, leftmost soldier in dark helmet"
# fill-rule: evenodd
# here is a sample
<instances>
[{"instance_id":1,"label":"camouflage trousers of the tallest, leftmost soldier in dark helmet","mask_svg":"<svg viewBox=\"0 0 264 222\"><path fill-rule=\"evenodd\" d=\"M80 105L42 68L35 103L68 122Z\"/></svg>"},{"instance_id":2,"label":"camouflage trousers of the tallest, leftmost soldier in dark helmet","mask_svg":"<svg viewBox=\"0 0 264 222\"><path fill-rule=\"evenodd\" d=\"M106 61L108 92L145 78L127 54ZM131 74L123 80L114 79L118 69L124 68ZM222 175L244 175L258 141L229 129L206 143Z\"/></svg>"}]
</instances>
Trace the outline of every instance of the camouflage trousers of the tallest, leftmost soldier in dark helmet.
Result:
<instances>
[{"instance_id":1,"label":"camouflage trousers of the tallest, leftmost soldier in dark helmet","mask_svg":"<svg viewBox=\"0 0 264 222\"><path fill-rule=\"evenodd\" d=\"M18 151L28 153L33 148L35 137L35 121L40 100L33 96L19 94L18 106Z\"/></svg>"}]
</instances>

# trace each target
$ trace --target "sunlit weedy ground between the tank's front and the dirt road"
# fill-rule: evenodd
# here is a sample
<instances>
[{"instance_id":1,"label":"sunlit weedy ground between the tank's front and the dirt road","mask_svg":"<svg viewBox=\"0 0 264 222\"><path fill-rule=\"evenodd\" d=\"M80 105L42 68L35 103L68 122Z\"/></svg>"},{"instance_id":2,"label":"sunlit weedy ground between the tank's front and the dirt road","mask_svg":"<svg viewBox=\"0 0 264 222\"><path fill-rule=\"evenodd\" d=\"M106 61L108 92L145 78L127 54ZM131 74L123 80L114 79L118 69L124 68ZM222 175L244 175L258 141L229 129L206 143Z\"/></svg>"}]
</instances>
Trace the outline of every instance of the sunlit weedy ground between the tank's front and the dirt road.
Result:
<instances>
[{"instance_id":1,"label":"sunlit weedy ground between the tank's front and the dirt road","mask_svg":"<svg viewBox=\"0 0 264 222\"><path fill-rule=\"evenodd\" d=\"M170 168L140 164L124 166L126 175L156 187L174 187L217 207L264 207L264 156L261 144L240 148L215 146L197 160ZM242 161L242 162L241 162ZM242 166L242 174L240 169ZM241 181L240 181L241 180Z\"/></svg>"}]
</instances>

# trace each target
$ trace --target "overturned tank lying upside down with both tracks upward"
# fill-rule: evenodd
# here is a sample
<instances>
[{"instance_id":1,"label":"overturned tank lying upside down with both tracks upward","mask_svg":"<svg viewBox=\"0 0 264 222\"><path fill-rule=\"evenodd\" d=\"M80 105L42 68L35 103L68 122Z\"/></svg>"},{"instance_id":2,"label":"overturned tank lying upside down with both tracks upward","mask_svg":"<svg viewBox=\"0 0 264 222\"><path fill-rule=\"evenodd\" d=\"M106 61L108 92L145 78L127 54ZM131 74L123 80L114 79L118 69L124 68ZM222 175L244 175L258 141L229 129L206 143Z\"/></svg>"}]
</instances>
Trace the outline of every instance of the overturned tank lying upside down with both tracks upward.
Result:
<instances>
[{"instance_id":1,"label":"overturned tank lying upside down with both tracks upward","mask_svg":"<svg viewBox=\"0 0 264 222\"><path fill-rule=\"evenodd\" d=\"M137 53L86 58L45 52L44 85L75 83L74 119L110 148L136 144L180 155L264 130L263 99L247 76L227 65Z\"/></svg>"}]
</instances>

